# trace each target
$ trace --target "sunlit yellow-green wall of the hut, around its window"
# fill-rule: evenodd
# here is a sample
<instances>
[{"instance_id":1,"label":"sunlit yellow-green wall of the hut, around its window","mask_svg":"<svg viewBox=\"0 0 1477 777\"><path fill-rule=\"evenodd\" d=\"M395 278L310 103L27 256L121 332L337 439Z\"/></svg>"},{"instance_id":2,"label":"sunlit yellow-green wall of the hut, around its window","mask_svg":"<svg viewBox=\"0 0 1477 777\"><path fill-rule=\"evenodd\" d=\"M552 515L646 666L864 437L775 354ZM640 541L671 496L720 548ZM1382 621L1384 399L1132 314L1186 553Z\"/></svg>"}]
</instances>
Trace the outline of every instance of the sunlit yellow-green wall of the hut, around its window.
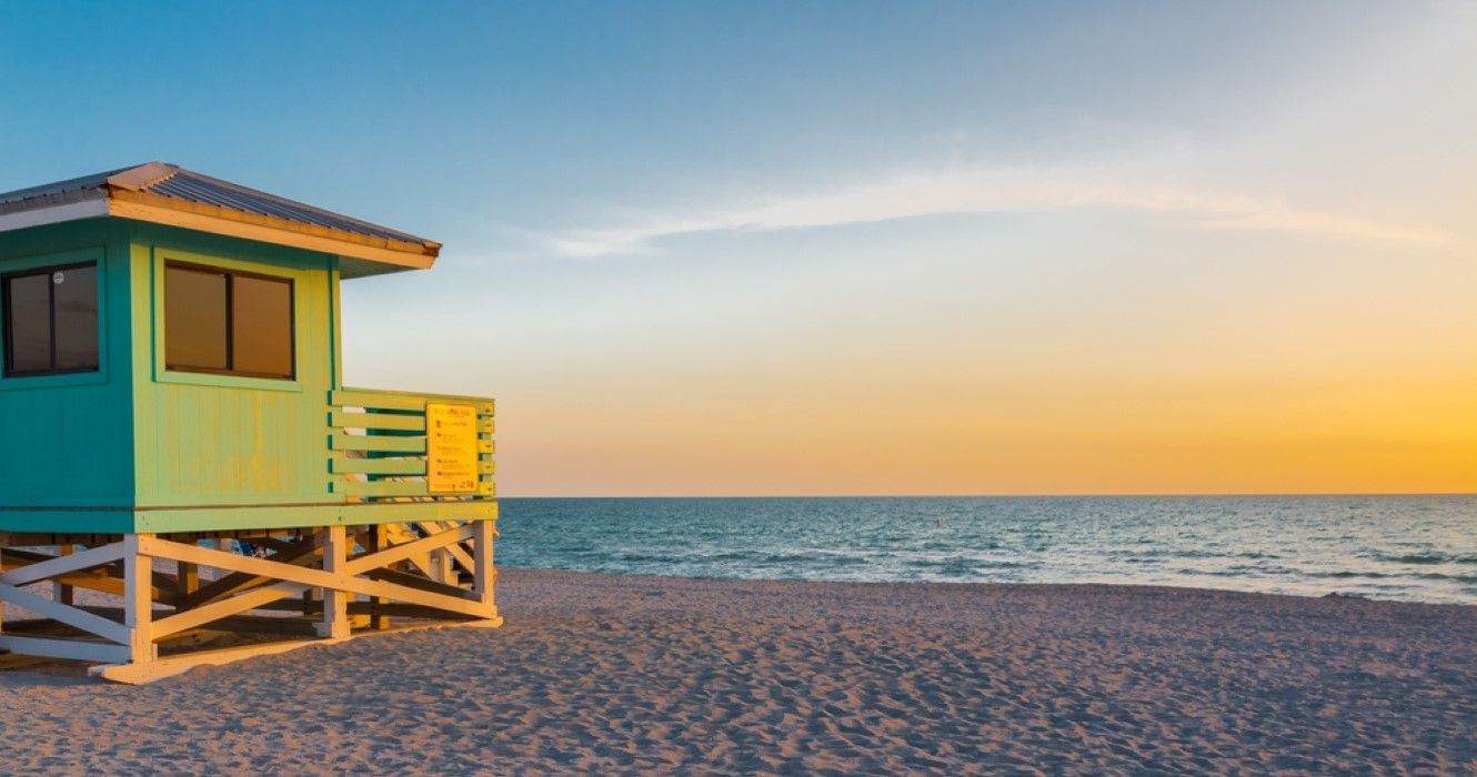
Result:
<instances>
[{"instance_id":1,"label":"sunlit yellow-green wall of the hut, around its window","mask_svg":"<svg viewBox=\"0 0 1477 777\"><path fill-rule=\"evenodd\" d=\"M295 380L171 372L164 368L164 263L185 261L289 278ZM323 504L326 414L335 381L334 259L312 251L140 225L133 233L134 417L140 507ZM253 527L242 511L219 524ZM160 524L164 521L164 524ZM152 530L167 530L167 514ZM247 523L244 523L247 521Z\"/></svg>"}]
</instances>

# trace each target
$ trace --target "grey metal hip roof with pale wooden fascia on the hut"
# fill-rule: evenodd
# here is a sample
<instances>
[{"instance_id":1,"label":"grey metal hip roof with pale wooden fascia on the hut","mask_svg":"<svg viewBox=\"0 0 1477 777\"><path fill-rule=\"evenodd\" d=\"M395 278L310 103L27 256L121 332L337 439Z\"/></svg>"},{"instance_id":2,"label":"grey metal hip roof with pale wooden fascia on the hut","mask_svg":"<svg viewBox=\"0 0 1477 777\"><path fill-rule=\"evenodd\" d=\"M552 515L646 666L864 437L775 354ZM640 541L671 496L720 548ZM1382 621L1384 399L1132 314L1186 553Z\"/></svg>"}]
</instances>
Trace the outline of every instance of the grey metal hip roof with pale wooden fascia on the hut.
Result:
<instances>
[{"instance_id":1,"label":"grey metal hip roof with pale wooden fascia on the hut","mask_svg":"<svg viewBox=\"0 0 1477 777\"><path fill-rule=\"evenodd\" d=\"M61 208L62 205L90 201L106 201L106 207L102 211L97 211L97 208L72 208L65 213ZM32 214L31 217L22 216L44 208L56 208L56 216L46 220L38 220L40 214ZM165 213L167 216L157 216L157 213ZM191 214L193 219L179 217L180 213ZM13 219L9 219L12 216ZM357 253L354 250L329 253L357 256L371 261L387 261L388 264L402 263L396 261L394 257L387 259L381 254L419 254L421 257L434 260L440 251L440 244L427 238L352 219L167 162L146 162L0 194L0 232L34 226L37 223L55 223L93 216L121 216L171 223L207 232L253 236L254 239L264 239L267 242L316 247L318 250L331 248L326 244L319 245L322 241L338 241L366 248ZM222 227L222 225L225 226ZM251 225L257 229L248 235L248 227L241 225ZM263 227L267 232L263 232ZM273 239L272 230L307 235L309 238L298 238L297 241ZM304 242L309 239L316 239L318 242ZM430 261L415 261L414 264L403 266L430 266Z\"/></svg>"}]
</instances>

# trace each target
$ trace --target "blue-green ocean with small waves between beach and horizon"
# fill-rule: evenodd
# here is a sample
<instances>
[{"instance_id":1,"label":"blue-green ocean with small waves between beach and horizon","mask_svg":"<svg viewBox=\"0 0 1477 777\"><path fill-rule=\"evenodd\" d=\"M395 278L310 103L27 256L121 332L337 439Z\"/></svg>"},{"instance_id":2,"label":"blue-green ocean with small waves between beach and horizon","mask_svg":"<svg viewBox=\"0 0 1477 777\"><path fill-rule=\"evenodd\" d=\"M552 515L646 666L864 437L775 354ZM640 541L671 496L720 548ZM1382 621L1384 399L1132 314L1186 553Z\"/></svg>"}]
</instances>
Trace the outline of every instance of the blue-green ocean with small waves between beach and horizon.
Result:
<instances>
[{"instance_id":1,"label":"blue-green ocean with small waves between beach and horizon","mask_svg":"<svg viewBox=\"0 0 1477 777\"><path fill-rule=\"evenodd\" d=\"M498 563L1477 604L1477 495L502 499Z\"/></svg>"}]
</instances>

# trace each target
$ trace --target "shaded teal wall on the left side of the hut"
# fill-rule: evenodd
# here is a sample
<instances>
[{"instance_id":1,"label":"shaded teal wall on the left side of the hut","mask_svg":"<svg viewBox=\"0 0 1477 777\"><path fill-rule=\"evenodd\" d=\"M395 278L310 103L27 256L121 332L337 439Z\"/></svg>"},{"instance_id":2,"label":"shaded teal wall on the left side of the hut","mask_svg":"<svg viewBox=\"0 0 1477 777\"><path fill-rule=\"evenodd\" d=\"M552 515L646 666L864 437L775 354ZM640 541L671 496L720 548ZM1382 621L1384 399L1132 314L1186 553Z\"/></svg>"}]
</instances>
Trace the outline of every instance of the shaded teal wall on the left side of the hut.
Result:
<instances>
[{"instance_id":1,"label":"shaded teal wall on the left side of the hut","mask_svg":"<svg viewBox=\"0 0 1477 777\"><path fill-rule=\"evenodd\" d=\"M3 510L133 504L128 241L126 223L108 219L0 233L0 273L96 260L102 322L97 372L0 377L0 530L118 532L131 524L121 511Z\"/></svg>"}]
</instances>

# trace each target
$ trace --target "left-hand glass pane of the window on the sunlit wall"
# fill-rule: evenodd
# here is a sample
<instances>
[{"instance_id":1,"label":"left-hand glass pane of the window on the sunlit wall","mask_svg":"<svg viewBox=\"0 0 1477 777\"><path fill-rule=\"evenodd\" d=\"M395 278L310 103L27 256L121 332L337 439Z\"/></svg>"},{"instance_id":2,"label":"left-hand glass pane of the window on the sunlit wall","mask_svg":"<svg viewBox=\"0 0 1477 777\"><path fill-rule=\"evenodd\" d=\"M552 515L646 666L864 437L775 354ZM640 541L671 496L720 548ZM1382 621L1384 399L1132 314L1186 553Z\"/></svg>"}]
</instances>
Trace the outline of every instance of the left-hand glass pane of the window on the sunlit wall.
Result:
<instances>
[{"instance_id":1,"label":"left-hand glass pane of the window on the sunlit wall","mask_svg":"<svg viewBox=\"0 0 1477 777\"><path fill-rule=\"evenodd\" d=\"M225 273L164 267L164 366L229 369Z\"/></svg>"}]
</instances>

